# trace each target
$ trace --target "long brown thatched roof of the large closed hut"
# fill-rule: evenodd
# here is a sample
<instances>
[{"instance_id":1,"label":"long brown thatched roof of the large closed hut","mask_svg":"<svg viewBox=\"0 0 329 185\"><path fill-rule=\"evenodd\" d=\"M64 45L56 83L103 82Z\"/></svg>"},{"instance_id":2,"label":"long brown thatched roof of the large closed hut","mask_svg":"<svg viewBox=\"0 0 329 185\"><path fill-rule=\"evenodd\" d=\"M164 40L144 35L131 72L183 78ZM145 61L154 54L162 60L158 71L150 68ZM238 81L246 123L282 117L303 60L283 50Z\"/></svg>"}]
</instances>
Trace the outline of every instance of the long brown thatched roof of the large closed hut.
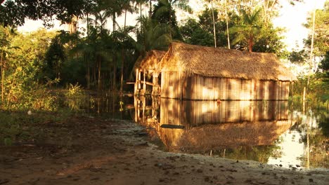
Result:
<instances>
[{"instance_id":1,"label":"long brown thatched roof of the large closed hut","mask_svg":"<svg viewBox=\"0 0 329 185\"><path fill-rule=\"evenodd\" d=\"M160 62L161 71L223 78L295 81L297 78L270 53L248 53L173 42Z\"/></svg>"}]
</instances>

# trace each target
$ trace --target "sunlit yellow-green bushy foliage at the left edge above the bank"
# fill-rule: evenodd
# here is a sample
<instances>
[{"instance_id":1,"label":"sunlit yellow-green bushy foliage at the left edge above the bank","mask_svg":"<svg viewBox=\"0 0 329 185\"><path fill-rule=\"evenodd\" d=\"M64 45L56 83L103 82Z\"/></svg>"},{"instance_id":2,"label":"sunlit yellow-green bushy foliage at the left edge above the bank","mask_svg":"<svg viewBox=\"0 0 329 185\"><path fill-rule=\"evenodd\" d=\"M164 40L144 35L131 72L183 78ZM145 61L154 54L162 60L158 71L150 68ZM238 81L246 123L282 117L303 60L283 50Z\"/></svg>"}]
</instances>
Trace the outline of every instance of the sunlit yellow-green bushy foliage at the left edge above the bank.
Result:
<instances>
[{"instance_id":1,"label":"sunlit yellow-green bushy foliage at the left edge above the bank","mask_svg":"<svg viewBox=\"0 0 329 185\"><path fill-rule=\"evenodd\" d=\"M5 32L10 30L2 27ZM55 97L49 94L46 86L53 80L44 78L44 59L51 37L55 33L42 29L22 35L8 34L10 43L2 47L6 55L1 57L1 107L8 109L53 110ZM3 36L4 38L4 36Z\"/></svg>"}]
</instances>

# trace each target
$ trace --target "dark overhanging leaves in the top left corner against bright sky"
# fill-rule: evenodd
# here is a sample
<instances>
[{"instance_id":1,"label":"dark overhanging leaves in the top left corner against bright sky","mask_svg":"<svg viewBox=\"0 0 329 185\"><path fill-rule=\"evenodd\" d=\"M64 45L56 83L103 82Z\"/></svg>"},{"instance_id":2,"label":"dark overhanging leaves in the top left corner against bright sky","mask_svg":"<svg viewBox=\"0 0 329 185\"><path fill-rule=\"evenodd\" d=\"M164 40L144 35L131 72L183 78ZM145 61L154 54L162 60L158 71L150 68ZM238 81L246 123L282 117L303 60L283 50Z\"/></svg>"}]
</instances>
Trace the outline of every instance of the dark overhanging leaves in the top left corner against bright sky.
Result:
<instances>
[{"instance_id":1,"label":"dark overhanging leaves in the top left corner against bright sky","mask_svg":"<svg viewBox=\"0 0 329 185\"><path fill-rule=\"evenodd\" d=\"M8 0L0 5L0 22L5 26L24 25L25 18L30 18L44 20L44 25L51 26L53 16L63 22L70 22L73 16L89 13L95 5L94 0Z\"/></svg>"}]
</instances>

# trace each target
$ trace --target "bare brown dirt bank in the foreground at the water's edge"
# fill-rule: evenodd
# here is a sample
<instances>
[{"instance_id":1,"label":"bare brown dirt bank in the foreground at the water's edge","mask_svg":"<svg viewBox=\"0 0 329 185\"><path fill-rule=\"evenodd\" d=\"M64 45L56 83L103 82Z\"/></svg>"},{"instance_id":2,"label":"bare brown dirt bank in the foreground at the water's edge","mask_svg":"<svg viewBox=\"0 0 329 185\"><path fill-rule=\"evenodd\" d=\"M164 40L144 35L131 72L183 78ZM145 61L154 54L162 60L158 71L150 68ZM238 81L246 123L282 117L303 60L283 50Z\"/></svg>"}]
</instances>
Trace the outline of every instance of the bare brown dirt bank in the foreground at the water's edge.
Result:
<instances>
[{"instance_id":1,"label":"bare brown dirt bank in the foreground at the water's edge","mask_svg":"<svg viewBox=\"0 0 329 185\"><path fill-rule=\"evenodd\" d=\"M0 184L329 184L329 171L288 170L164 152L128 121L44 123L47 137L0 146Z\"/></svg>"}]
</instances>

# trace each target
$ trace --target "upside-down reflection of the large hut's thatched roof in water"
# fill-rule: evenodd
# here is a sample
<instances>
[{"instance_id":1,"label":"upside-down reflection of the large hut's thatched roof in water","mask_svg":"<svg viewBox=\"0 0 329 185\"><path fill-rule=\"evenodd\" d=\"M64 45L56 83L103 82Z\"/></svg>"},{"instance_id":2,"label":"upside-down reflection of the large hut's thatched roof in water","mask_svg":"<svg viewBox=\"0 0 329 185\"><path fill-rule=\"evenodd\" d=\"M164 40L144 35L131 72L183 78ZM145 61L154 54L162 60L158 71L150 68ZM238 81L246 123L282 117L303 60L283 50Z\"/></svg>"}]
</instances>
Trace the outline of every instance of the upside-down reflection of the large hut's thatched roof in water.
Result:
<instances>
[{"instance_id":1,"label":"upside-down reflection of the large hut's thatched roof in water","mask_svg":"<svg viewBox=\"0 0 329 185\"><path fill-rule=\"evenodd\" d=\"M209 151L237 146L271 145L290 126L288 121L221 123L186 130L159 128L159 135L169 149Z\"/></svg>"}]
</instances>

